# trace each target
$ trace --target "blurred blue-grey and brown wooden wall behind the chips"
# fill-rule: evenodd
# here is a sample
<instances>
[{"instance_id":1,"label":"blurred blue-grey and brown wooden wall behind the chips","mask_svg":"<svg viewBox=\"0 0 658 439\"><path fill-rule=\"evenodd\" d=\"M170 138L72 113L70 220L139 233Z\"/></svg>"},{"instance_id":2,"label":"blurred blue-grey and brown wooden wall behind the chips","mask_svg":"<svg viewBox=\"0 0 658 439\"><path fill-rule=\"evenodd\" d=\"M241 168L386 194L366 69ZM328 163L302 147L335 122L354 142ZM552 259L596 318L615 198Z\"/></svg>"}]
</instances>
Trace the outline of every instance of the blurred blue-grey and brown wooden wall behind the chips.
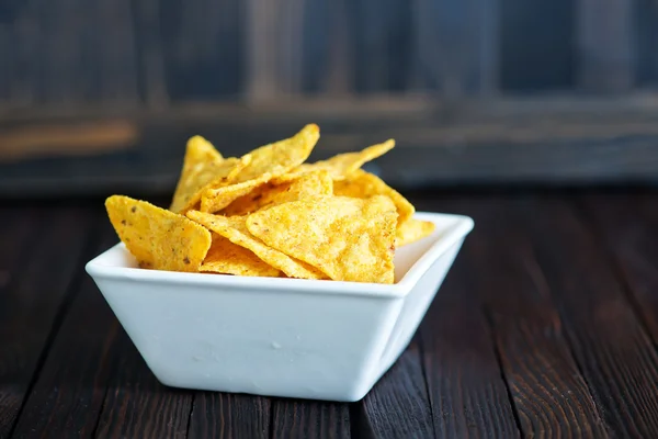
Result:
<instances>
[{"instance_id":1,"label":"blurred blue-grey and brown wooden wall behind the chips","mask_svg":"<svg viewBox=\"0 0 658 439\"><path fill-rule=\"evenodd\" d=\"M656 0L2 0L0 196L171 193L185 140L395 137L401 189L651 184Z\"/></svg>"}]
</instances>

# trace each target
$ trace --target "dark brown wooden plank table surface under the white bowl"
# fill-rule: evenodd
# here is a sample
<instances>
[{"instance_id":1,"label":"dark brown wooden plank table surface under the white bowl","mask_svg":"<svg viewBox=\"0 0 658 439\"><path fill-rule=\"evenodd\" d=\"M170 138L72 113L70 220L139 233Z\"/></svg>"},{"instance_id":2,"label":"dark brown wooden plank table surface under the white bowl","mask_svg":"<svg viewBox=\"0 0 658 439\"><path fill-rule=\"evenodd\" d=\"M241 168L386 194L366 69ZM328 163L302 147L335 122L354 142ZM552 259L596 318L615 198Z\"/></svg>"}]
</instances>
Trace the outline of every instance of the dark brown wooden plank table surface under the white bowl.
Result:
<instances>
[{"instance_id":1,"label":"dark brown wooden plank table surface under the white bowl","mask_svg":"<svg viewBox=\"0 0 658 439\"><path fill-rule=\"evenodd\" d=\"M88 202L0 205L0 438L658 437L658 192L417 193L474 233L361 402L168 389L83 266Z\"/></svg>"}]
</instances>

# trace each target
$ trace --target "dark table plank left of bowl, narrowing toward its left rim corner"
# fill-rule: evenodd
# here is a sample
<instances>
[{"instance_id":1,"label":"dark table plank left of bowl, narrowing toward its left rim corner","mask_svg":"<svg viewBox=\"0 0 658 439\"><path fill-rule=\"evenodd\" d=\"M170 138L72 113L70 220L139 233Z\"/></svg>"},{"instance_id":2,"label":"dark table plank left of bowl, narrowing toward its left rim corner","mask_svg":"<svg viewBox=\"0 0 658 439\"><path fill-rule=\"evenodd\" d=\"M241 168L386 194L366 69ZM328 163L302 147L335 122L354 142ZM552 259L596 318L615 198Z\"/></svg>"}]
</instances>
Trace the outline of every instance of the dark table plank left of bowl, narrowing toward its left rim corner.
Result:
<instances>
[{"instance_id":1,"label":"dark table plank left of bowl, narrowing toward its left rim corner","mask_svg":"<svg viewBox=\"0 0 658 439\"><path fill-rule=\"evenodd\" d=\"M101 224L94 233L95 254L117 240L109 222ZM67 228L81 235L79 223L54 232L71 233ZM60 255L57 258L68 260ZM79 261L76 263L77 270L82 267ZM115 342L118 335L118 323L91 278L84 274L25 401L14 436L90 437L102 410L106 384L121 358Z\"/></svg>"}]
</instances>

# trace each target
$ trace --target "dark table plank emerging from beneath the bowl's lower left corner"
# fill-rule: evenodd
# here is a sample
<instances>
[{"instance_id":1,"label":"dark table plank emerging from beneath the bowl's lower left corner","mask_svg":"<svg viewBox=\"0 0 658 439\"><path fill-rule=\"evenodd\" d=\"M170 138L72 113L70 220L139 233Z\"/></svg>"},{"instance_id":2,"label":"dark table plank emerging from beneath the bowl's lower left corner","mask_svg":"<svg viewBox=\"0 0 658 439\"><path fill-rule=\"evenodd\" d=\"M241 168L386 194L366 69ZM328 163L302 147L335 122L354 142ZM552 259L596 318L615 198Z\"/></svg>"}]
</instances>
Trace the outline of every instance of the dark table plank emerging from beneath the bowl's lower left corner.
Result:
<instances>
[{"instance_id":1,"label":"dark table plank emerging from beneath the bowl's lower left corner","mask_svg":"<svg viewBox=\"0 0 658 439\"><path fill-rule=\"evenodd\" d=\"M118 324L114 324L114 327L116 325ZM117 331L112 349L118 362L106 384L107 390L95 428L97 436L185 438L193 392L160 384L123 328L118 328ZM106 339L114 336L111 331Z\"/></svg>"}]
</instances>

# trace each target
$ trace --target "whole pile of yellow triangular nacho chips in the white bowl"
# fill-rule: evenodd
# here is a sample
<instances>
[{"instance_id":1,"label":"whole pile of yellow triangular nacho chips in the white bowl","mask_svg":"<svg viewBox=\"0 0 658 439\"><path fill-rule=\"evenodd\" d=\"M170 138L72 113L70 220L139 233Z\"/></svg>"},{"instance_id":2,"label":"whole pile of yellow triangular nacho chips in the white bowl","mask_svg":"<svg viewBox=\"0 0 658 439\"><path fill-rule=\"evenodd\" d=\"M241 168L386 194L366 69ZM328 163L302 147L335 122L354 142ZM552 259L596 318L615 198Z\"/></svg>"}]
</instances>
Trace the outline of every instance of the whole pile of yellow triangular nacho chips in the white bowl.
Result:
<instances>
[{"instance_id":1,"label":"whole pile of yellow triangular nacho chips in the white bowl","mask_svg":"<svg viewBox=\"0 0 658 439\"><path fill-rule=\"evenodd\" d=\"M309 124L239 158L192 137L169 210L113 195L110 221L141 268L393 283L396 247L434 230L361 169L395 142L306 164L319 137Z\"/></svg>"}]
</instances>

